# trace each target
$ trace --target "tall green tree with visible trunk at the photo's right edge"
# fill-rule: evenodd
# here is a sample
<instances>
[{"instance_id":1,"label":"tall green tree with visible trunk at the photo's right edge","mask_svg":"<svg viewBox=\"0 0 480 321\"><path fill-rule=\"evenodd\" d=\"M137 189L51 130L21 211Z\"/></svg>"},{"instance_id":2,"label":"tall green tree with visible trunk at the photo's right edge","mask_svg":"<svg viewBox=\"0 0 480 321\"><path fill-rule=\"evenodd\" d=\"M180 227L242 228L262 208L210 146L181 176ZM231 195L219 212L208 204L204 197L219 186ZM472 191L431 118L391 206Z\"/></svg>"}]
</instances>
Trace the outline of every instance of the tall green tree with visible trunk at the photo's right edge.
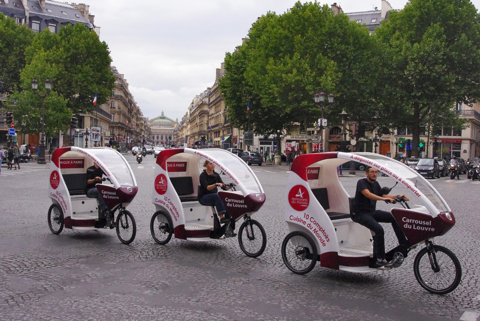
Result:
<instances>
[{"instance_id":1,"label":"tall green tree with visible trunk at the photo's right edge","mask_svg":"<svg viewBox=\"0 0 480 321\"><path fill-rule=\"evenodd\" d=\"M480 98L480 16L470 1L411 0L390 11L375 33L383 53L384 113L401 115L392 124L411 129L414 147L421 126L457 125L449 110Z\"/></svg>"}]
</instances>

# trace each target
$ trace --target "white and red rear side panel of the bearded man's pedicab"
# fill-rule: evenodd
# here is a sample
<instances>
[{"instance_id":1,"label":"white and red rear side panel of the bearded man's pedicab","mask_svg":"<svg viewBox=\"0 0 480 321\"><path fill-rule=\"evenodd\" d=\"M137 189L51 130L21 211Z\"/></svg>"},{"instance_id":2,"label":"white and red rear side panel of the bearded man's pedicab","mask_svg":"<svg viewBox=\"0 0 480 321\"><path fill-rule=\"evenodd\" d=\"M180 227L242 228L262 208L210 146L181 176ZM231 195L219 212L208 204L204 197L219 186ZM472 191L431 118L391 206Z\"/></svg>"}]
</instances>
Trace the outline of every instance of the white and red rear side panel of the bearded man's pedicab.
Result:
<instances>
[{"instance_id":1,"label":"white and red rear side panel of the bearded man's pedicab","mask_svg":"<svg viewBox=\"0 0 480 321\"><path fill-rule=\"evenodd\" d=\"M336 158L336 153L305 154L295 159L288 176L285 221L289 230L300 229L312 235L320 253L320 265L339 269L338 241L335 227L308 185L306 168L313 163ZM292 226L295 225L295 226Z\"/></svg>"}]
</instances>

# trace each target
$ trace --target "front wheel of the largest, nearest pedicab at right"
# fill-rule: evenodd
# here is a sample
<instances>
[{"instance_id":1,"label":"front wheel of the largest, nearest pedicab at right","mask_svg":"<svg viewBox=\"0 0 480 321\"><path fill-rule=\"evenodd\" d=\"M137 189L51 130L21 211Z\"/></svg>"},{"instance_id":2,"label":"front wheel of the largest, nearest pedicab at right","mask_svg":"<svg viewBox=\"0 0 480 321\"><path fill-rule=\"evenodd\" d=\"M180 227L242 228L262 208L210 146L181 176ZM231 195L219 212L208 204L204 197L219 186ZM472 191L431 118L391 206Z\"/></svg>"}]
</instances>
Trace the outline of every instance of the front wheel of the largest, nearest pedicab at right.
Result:
<instances>
[{"instance_id":1,"label":"front wheel of the largest, nearest pedicab at right","mask_svg":"<svg viewBox=\"0 0 480 321\"><path fill-rule=\"evenodd\" d=\"M455 254L446 247L424 247L415 257L413 272L418 283L433 294L447 294L456 289L462 267Z\"/></svg>"}]
</instances>

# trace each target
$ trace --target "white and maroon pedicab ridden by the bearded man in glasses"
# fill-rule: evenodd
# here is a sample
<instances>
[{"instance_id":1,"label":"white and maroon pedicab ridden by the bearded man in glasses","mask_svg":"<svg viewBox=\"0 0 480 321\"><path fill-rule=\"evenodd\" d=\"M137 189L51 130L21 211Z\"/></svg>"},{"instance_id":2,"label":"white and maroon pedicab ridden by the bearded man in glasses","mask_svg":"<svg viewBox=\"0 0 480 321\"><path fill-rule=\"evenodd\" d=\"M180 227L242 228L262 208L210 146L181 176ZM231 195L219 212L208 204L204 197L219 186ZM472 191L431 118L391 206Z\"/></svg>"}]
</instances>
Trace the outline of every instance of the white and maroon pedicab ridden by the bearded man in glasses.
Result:
<instances>
[{"instance_id":1,"label":"white and maroon pedicab ridden by the bearded man in glasses","mask_svg":"<svg viewBox=\"0 0 480 321\"><path fill-rule=\"evenodd\" d=\"M445 235L454 225L455 217L445 200L420 173L394 159L373 153L326 152L305 154L291 165L288 177L288 197L285 201L285 221L289 234L282 243L282 259L288 269L297 274L320 266L340 271L375 272L372 232L351 219L354 198L341 184L337 166L357 161L393 178L403 186L399 194L410 198L394 199L402 208L391 213L408 239L385 254L386 260L398 268L409 252L425 245L413 263L419 284L434 294L446 294L460 283L462 269L455 254L434 244L437 236ZM364 173L364 172L362 172ZM394 186L395 187L395 186ZM384 195L391 188L384 187Z\"/></svg>"}]
</instances>

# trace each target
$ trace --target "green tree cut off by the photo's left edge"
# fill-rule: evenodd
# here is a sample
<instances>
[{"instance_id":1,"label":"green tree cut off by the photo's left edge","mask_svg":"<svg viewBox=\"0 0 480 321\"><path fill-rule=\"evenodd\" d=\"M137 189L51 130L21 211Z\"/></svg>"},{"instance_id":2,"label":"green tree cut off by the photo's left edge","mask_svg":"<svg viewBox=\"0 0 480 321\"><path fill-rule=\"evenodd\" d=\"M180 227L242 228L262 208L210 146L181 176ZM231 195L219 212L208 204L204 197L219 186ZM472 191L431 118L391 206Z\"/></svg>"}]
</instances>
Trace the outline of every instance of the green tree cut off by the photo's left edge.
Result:
<instances>
[{"instance_id":1,"label":"green tree cut off by the photo's left edge","mask_svg":"<svg viewBox=\"0 0 480 321\"><path fill-rule=\"evenodd\" d=\"M34 37L32 30L18 25L0 12L0 94L20 87L20 70L25 66L25 48ZM1 104L1 101L0 101Z\"/></svg>"}]
</instances>

